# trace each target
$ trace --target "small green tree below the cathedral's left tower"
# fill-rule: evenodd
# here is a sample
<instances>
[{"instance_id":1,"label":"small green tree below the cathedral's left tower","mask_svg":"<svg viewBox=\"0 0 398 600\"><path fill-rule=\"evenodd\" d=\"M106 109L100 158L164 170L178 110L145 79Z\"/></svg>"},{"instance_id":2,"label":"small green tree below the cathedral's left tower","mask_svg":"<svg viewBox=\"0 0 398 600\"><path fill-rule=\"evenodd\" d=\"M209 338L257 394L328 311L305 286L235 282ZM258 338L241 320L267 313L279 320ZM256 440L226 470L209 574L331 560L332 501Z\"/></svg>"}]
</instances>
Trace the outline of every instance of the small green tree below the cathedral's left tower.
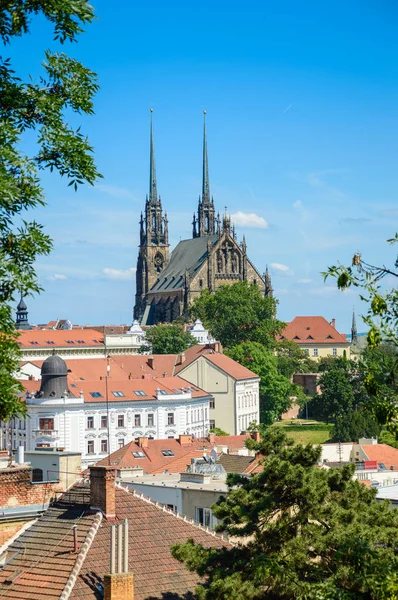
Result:
<instances>
[{"instance_id":1,"label":"small green tree below the cathedral's left tower","mask_svg":"<svg viewBox=\"0 0 398 600\"><path fill-rule=\"evenodd\" d=\"M140 353L178 354L194 346L197 341L184 326L179 323L155 325L146 331L146 343Z\"/></svg>"}]
</instances>

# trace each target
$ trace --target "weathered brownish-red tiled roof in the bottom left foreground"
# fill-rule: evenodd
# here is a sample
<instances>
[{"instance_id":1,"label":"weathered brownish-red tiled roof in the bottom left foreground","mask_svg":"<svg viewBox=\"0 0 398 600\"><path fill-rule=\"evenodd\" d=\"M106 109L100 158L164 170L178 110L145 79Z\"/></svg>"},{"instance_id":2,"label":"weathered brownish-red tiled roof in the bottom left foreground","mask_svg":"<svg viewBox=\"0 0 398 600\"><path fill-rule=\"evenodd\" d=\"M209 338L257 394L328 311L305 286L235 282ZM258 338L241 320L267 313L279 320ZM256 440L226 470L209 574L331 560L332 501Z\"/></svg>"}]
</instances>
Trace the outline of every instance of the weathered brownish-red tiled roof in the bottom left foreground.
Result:
<instances>
[{"instance_id":1,"label":"weathered brownish-red tiled roof in the bottom left foreground","mask_svg":"<svg viewBox=\"0 0 398 600\"><path fill-rule=\"evenodd\" d=\"M75 487L66 495L72 505L59 502L10 547L14 558L0 571L0 597L7 600L58 600L77 565L73 552L72 527L77 524L79 548L91 530L93 540L72 588L70 600L100 597L103 575L110 569L111 521L99 518L89 509L83 494ZM129 519L129 571L134 574L135 600L177 600L193 597L199 578L170 553L170 546L193 538L206 547L221 548L228 543L185 521L162 507L116 488L117 520ZM93 524L95 523L95 526ZM99 528L98 528L99 525Z\"/></svg>"}]
</instances>

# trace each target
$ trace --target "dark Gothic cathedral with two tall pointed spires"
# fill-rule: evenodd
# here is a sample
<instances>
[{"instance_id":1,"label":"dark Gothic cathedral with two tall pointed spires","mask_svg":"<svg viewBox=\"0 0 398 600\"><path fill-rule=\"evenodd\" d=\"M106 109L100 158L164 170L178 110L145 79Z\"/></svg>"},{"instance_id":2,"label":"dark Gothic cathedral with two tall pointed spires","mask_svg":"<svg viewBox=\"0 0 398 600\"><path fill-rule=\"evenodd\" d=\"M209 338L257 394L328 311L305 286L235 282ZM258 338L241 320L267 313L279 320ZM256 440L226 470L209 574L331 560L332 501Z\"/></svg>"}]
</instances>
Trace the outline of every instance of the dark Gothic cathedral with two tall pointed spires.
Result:
<instances>
[{"instance_id":1,"label":"dark Gothic cathedral with two tall pointed spires","mask_svg":"<svg viewBox=\"0 0 398 600\"><path fill-rule=\"evenodd\" d=\"M242 280L258 285L265 296L272 296L268 269L260 275L247 256L245 237L238 243L227 213L222 219L216 214L210 195L206 116L202 194L193 215L192 238L180 241L170 253L168 228L157 190L151 114L149 195L140 220L134 318L141 325L170 323L186 314L202 290L214 292L222 285Z\"/></svg>"}]
</instances>

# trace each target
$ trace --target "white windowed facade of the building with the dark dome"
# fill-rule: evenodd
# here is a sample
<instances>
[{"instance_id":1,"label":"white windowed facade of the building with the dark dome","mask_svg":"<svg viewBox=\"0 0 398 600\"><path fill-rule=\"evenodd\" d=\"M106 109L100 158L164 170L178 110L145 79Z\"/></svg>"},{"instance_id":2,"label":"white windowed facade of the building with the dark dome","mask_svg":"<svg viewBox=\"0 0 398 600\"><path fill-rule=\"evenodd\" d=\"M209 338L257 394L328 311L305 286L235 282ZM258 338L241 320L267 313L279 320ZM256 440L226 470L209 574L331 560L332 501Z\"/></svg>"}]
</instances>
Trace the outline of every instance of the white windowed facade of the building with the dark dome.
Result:
<instances>
[{"instance_id":1,"label":"white windowed facade of the building with the dark dome","mask_svg":"<svg viewBox=\"0 0 398 600\"><path fill-rule=\"evenodd\" d=\"M63 448L80 452L82 466L95 464L138 437L175 438L189 433L204 437L209 432L209 398L184 394L161 395L151 401L85 402L78 398L26 399L26 421L16 420L13 434L2 428L4 447L25 442L27 450ZM110 446L110 447L109 447Z\"/></svg>"}]
</instances>

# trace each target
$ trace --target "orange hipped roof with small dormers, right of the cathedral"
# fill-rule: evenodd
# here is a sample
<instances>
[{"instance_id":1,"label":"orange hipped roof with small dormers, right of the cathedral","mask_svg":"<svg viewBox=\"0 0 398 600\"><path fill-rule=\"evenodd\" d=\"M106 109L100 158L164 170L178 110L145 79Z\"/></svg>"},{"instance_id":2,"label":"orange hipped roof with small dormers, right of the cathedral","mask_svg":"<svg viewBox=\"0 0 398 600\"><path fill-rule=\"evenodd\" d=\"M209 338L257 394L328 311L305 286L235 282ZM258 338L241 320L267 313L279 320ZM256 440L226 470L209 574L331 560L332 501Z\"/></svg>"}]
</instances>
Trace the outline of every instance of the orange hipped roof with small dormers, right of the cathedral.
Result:
<instances>
[{"instance_id":1,"label":"orange hipped roof with small dormers, right of the cathedral","mask_svg":"<svg viewBox=\"0 0 398 600\"><path fill-rule=\"evenodd\" d=\"M295 317L282 330L279 341L290 340L297 344L348 344L324 317Z\"/></svg>"}]
</instances>

